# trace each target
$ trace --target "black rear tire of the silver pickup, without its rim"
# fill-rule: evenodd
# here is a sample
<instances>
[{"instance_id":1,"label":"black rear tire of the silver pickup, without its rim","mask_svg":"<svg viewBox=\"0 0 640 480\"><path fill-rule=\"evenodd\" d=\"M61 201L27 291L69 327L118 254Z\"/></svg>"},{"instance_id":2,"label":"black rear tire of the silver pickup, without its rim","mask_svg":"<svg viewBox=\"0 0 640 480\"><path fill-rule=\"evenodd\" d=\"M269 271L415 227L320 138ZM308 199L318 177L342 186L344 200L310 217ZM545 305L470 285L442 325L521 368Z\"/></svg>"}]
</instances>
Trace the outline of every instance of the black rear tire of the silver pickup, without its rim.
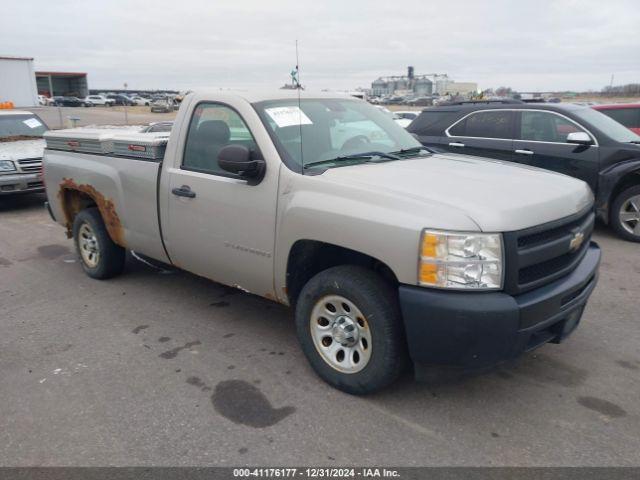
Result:
<instances>
[{"instance_id":1,"label":"black rear tire of the silver pickup, without its rim","mask_svg":"<svg viewBox=\"0 0 640 480\"><path fill-rule=\"evenodd\" d=\"M80 251L80 232L84 224L88 225L96 240L96 248L97 252L99 252L96 265L88 264ZM80 257L82 269L91 278L105 280L121 274L124 270L126 251L121 246L113 243L97 208L87 208L76 215L73 221L73 240Z\"/></svg>"}]
</instances>

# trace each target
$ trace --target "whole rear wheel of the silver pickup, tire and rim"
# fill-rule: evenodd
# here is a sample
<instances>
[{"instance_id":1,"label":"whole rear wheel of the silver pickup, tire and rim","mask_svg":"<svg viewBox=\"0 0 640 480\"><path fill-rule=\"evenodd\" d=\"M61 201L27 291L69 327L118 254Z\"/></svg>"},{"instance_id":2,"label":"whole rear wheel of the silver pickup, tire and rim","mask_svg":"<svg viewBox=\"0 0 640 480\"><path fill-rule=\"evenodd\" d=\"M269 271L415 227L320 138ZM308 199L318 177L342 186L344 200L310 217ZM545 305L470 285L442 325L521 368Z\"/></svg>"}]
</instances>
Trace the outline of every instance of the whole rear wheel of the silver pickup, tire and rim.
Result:
<instances>
[{"instance_id":1,"label":"whole rear wheel of the silver pickup, tire and rim","mask_svg":"<svg viewBox=\"0 0 640 480\"><path fill-rule=\"evenodd\" d=\"M87 275L103 280L122 273L125 249L113 243L97 208L87 208L76 215L73 238Z\"/></svg>"}]
</instances>

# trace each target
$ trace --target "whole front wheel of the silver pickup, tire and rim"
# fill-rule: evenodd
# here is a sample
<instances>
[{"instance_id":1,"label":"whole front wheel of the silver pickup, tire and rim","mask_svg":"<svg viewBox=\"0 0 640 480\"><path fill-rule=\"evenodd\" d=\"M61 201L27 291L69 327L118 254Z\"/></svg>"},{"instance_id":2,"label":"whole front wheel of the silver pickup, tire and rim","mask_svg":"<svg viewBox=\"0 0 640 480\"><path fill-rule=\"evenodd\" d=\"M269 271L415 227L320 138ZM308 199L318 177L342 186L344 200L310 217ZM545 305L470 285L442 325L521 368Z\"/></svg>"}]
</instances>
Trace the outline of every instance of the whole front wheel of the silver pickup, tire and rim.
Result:
<instances>
[{"instance_id":1,"label":"whole front wheel of the silver pickup, tire and rim","mask_svg":"<svg viewBox=\"0 0 640 480\"><path fill-rule=\"evenodd\" d=\"M347 393L378 391L406 364L396 291L362 267L333 267L313 277L298 299L296 330L316 373Z\"/></svg>"}]
</instances>

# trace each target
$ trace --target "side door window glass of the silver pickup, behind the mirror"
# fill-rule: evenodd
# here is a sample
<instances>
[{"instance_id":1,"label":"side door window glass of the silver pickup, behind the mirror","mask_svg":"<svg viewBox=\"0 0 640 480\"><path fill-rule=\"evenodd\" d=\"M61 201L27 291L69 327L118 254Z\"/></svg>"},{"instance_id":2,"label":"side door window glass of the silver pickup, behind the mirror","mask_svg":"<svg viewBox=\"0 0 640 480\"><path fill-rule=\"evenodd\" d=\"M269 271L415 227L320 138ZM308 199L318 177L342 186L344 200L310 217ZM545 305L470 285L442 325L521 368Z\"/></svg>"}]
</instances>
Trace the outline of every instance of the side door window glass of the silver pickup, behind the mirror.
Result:
<instances>
[{"instance_id":1,"label":"side door window glass of the silver pickup, behind the mirror","mask_svg":"<svg viewBox=\"0 0 640 480\"><path fill-rule=\"evenodd\" d=\"M189 123L182 167L228 177L231 174L218 165L218 153L231 144L257 150L249 128L235 110L216 103L201 103Z\"/></svg>"}]
</instances>

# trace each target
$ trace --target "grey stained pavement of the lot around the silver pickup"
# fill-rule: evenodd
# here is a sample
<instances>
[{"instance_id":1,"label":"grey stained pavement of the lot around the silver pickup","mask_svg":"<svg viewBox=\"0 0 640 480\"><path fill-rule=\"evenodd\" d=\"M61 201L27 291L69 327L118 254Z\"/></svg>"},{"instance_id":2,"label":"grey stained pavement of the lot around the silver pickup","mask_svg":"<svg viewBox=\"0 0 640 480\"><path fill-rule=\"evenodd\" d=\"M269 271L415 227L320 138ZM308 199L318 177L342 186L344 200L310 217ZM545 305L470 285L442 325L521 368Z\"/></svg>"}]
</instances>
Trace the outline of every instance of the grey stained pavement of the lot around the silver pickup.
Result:
<instances>
[{"instance_id":1,"label":"grey stained pavement of the lot around the silver pickup","mask_svg":"<svg viewBox=\"0 0 640 480\"><path fill-rule=\"evenodd\" d=\"M2 465L640 463L639 245L605 229L565 344L357 398L313 374L279 305L135 259L88 278L43 200L0 200Z\"/></svg>"}]
</instances>

